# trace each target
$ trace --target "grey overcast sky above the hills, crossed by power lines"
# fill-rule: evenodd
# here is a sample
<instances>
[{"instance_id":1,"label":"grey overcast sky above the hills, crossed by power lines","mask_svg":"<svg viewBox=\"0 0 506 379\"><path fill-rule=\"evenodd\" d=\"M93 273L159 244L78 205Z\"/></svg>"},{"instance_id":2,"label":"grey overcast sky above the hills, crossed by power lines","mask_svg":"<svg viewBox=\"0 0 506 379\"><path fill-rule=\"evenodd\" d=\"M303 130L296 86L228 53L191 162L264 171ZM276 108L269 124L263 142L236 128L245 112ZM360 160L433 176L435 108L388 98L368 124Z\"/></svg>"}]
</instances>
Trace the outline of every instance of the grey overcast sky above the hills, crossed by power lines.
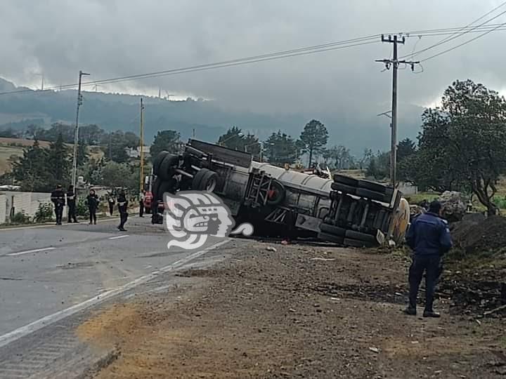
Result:
<instances>
[{"instance_id":1,"label":"grey overcast sky above the hills, crossed by power lines","mask_svg":"<svg viewBox=\"0 0 506 379\"><path fill-rule=\"evenodd\" d=\"M502 2L493 0L12 0L1 2L0 76L17 85L70 84L79 69L105 79L325 44L369 34L459 27ZM506 6L500 8L506 11ZM490 17L491 17L490 16ZM492 22L506 22L501 16ZM467 34L443 48L477 34ZM506 88L505 32L493 32L430 60L424 72L399 72L399 100L429 105L454 79ZM443 37L422 37L417 50ZM416 36L400 47L410 53ZM155 95L190 94L253 112L389 109L391 72L371 44L240 67L100 87Z\"/></svg>"}]
</instances>

